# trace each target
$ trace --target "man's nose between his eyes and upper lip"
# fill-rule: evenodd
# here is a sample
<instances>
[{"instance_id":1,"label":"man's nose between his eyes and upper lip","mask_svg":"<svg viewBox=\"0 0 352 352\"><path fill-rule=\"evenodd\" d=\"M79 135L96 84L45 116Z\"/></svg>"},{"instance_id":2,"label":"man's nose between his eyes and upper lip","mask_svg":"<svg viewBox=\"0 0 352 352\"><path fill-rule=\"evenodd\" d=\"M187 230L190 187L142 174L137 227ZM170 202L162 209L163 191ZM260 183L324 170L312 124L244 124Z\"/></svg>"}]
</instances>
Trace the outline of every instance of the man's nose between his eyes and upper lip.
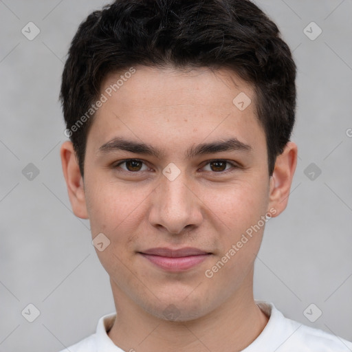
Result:
<instances>
[{"instance_id":1,"label":"man's nose between his eyes and upper lip","mask_svg":"<svg viewBox=\"0 0 352 352\"><path fill-rule=\"evenodd\" d=\"M199 189L192 190L191 184L183 171L173 181L162 176L152 196L151 225L169 234L180 234L201 224L201 195L197 194Z\"/></svg>"}]
</instances>

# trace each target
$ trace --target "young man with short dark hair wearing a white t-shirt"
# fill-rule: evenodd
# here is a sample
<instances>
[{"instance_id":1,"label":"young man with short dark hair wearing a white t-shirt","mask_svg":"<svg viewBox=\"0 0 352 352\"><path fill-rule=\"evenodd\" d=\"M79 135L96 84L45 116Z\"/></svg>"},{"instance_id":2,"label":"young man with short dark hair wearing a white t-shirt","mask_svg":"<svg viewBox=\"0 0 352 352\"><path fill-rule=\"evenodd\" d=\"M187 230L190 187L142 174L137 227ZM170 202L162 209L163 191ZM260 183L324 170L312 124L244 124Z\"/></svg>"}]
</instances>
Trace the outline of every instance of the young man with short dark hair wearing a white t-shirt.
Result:
<instances>
[{"instance_id":1,"label":"young man with short dark hair wearing a white t-shirt","mask_svg":"<svg viewBox=\"0 0 352 352\"><path fill-rule=\"evenodd\" d=\"M295 79L250 1L118 0L80 25L61 160L116 313L63 351L352 351L253 297L296 169Z\"/></svg>"}]
</instances>

